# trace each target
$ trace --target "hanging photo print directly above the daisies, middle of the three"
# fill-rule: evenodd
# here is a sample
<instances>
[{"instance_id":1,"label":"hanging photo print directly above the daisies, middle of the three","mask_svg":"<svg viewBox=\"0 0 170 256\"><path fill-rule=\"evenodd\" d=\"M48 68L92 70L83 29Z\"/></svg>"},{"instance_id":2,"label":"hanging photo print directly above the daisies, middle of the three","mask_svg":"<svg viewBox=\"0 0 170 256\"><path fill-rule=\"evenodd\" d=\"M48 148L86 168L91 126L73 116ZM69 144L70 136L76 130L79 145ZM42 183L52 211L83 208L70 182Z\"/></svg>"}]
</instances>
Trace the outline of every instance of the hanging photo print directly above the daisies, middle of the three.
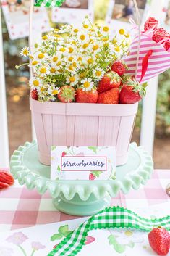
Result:
<instances>
[{"instance_id":1,"label":"hanging photo print directly above the daisies, middle of the three","mask_svg":"<svg viewBox=\"0 0 170 256\"><path fill-rule=\"evenodd\" d=\"M82 23L88 15L93 21L94 7L93 0L66 0L60 8L52 9L52 21L69 23L73 25Z\"/></svg>"}]
</instances>

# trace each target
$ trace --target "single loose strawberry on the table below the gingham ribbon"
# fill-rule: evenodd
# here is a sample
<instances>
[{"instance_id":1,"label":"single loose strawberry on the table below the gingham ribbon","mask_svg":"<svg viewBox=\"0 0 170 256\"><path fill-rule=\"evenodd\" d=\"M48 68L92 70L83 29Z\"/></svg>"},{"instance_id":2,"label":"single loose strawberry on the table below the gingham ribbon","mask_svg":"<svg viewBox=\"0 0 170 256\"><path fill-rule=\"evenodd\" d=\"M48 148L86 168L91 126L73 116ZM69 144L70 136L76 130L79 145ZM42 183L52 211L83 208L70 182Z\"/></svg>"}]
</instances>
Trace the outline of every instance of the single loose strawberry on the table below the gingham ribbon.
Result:
<instances>
[{"instance_id":1,"label":"single loose strawberry on the table below the gingham ribbon","mask_svg":"<svg viewBox=\"0 0 170 256\"><path fill-rule=\"evenodd\" d=\"M158 255L167 255L170 248L170 234L165 228L153 228L148 234L150 247Z\"/></svg>"}]
</instances>

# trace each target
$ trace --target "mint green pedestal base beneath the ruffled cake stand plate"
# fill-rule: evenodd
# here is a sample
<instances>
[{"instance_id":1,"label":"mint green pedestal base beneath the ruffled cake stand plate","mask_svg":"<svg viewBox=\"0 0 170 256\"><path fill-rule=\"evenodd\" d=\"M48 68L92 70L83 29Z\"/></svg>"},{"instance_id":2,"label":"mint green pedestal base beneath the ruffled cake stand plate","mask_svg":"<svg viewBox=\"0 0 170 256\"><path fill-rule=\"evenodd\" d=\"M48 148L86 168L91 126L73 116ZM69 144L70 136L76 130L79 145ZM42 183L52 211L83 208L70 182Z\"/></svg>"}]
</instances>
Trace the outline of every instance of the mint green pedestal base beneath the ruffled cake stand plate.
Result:
<instances>
[{"instance_id":1,"label":"mint green pedestal base beneath the ruffled cake stand plate","mask_svg":"<svg viewBox=\"0 0 170 256\"><path fill-rule=\"evenodd\" d=\"M67 200L65 197L60 196L53 199L53 203L57 210L69 215L88 216L94 215L109 206L111 197L108 195L103 199L96 199L91 194L87 201L82 201L78 195L75 195L72 200Z\"/></svg>"}]
</instances>

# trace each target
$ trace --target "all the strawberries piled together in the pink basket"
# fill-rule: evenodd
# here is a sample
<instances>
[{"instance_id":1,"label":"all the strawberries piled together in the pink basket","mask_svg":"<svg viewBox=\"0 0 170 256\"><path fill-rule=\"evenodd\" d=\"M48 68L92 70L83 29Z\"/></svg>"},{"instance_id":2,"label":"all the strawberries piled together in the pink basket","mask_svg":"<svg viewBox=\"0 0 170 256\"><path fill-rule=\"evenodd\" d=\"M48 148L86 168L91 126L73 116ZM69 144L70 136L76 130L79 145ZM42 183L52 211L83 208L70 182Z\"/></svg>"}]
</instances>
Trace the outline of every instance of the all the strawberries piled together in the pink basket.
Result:
<instances>
[{"instance_id":1,"label":"all the strawberries piled together in the pink basket","mask_svg":"<svg viewBox=\"0 0 170 256\"><path fill-rule=\"evenodd\" d=\"M134 104L145 96L145 88L134 77L124 75L127 65L117 60L111 70L103 75L98 85L91 90L63 86L57 98L59 102L98 103L98 104ZM38 99L32 91L33 99Z\"/></svg>"}]
</instances>

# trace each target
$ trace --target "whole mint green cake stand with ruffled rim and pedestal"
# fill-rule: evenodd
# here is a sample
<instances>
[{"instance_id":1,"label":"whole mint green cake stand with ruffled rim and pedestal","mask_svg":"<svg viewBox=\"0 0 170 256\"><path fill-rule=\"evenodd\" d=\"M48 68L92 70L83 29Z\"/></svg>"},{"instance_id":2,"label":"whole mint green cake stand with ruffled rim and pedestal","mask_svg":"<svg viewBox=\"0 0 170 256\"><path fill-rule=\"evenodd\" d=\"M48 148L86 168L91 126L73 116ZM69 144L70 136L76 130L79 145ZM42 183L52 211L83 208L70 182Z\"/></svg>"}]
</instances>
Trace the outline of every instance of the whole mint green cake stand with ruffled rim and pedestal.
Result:
<instances>
[{"instance_id":1,"label":"whole mint green cake stand with ruffled rim and pedestal","mask_svg":"<svg viewBox=\"0 0 170 256\"><path fill-rule=\"evenodd\" d=\"M139 189L153 172L152 157L142 147L129 146L126 165L116 167L114 181L52 181L50 167L38 161L36 141L19 146L11 157L10 169L20 185L36 188L40 194L50 192L55 207L70 215L93 215L109 205L111 197L122 191Z\"/></svg>"}]
</instances>

